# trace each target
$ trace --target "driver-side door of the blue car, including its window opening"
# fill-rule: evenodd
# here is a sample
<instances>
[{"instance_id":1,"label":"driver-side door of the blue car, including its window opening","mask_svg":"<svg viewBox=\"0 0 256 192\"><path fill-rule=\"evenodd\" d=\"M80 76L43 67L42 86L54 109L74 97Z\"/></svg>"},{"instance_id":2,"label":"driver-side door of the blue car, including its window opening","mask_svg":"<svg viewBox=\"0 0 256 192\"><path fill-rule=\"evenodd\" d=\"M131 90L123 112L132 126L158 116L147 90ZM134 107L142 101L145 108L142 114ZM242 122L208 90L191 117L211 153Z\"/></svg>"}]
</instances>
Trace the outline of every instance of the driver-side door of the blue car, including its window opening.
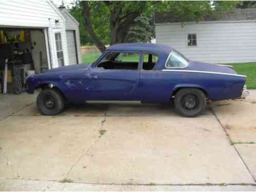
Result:
<instances>
[{"instance_id":1,"label":"driver-side door of the blue car, including its window opening","mask_svg":"<svg viewBox=\"0 0 256 192\"><path fill-rule=\"evenodd\" d=\"M109 62L104 63L104 67L101 67L101 63L108 62L107 54L120 55L123 53L129 55L130 58L134 56L133 62L125 59L116 57L112 58ZM139 70L138 66L140 63L141 54L135 52L106 52L105 56L97 62L96 65L92 66L90 72L85 79L84 97L86 101L113 101L113 100L137 100L135 90L139 83ZM105 59L105 60L104 60ZM137 64L136 64L137 62ZM129 65L131 65L129 67ZM135 66L137 67L135 68ZM126 68L124 68L126 66Z\"/></svg>"}]
</instances>

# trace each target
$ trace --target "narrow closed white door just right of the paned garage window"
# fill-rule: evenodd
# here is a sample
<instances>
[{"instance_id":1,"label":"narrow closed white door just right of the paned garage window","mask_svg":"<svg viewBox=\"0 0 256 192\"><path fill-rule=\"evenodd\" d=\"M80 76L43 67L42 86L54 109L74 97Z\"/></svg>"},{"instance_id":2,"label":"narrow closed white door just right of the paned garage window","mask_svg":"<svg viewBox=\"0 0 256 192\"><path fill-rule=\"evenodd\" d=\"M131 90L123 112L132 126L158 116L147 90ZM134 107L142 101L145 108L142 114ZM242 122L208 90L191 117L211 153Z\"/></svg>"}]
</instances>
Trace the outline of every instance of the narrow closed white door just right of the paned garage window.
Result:
<instances>
[{"instance_id":1,"label":"narrow closed white door just right of the paned garage window","mask_svg":"<svg viewBox=\"0 0 256 192\"><path fill-rule=\"evenodd\" d=\"M66 31L66 36L69 65L74 65L78 63L75 31Z\"/></svg>"}]
</instances>

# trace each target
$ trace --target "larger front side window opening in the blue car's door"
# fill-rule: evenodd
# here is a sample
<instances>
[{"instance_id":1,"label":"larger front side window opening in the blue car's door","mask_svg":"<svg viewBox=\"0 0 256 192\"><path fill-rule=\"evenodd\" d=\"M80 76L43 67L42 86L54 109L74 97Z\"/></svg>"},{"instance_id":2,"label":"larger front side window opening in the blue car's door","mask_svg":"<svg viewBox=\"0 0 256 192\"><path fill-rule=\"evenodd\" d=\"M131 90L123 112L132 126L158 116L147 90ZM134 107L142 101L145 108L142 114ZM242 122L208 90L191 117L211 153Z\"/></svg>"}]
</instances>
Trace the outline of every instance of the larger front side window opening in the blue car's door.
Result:
<instances>
[{"instance_id":1,"label":"larger front side window opening in the blue car's door","mask_svg":"<svg viewBox=\"0 0 256 192\"><path fill-rule=\"evenodd\" d=\"M97 68L110 70L137 70L139 53L107 53L99 62Z\"/></svg>"}]
</instances>

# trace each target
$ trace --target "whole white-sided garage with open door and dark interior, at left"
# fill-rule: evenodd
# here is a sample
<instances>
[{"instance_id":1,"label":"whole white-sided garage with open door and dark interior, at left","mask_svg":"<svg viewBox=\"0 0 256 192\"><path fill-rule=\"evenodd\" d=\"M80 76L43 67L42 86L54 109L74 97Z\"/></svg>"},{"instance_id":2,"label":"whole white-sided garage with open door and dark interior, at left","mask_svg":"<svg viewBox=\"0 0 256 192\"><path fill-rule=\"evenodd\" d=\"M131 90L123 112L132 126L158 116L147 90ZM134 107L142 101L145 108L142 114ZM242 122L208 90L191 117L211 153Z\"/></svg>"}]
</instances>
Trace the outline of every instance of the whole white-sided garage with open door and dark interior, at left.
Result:
<instances>
[{"instance_id":1,"label":"whole white-sided garage with open door and dark interior, at left","mask_svg":"<svg viewBox=\"0 0 256 192\"><path fill-rule=\"evenodd\" d=\"M0 3L0 94L21 94L26 77L82 62L79 23L51 1Z\"/></svg>"}]
</instances>

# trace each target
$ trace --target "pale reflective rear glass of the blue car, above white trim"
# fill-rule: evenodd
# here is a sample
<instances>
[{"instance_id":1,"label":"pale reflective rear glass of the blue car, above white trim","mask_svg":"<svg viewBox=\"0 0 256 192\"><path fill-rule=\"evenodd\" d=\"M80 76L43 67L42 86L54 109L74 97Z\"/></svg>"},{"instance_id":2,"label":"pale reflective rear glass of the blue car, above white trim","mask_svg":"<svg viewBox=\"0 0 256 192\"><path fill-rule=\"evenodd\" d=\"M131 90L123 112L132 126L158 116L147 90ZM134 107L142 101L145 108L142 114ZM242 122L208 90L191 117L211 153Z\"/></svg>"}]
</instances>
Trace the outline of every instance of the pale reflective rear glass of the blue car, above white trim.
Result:
<instances>
[{"instance_id":1,"label":"pale reflective rear glass of the blue car, above white trim","mask_svg":"<svg viewBox=\"0 0 256 192\"><path fill-rule=\"evenodd\" d=\"M166 62L167 68L184 68L189 65L189 61L176 51L171 53L171 56Z\"/></svg>"}]
</instances>

